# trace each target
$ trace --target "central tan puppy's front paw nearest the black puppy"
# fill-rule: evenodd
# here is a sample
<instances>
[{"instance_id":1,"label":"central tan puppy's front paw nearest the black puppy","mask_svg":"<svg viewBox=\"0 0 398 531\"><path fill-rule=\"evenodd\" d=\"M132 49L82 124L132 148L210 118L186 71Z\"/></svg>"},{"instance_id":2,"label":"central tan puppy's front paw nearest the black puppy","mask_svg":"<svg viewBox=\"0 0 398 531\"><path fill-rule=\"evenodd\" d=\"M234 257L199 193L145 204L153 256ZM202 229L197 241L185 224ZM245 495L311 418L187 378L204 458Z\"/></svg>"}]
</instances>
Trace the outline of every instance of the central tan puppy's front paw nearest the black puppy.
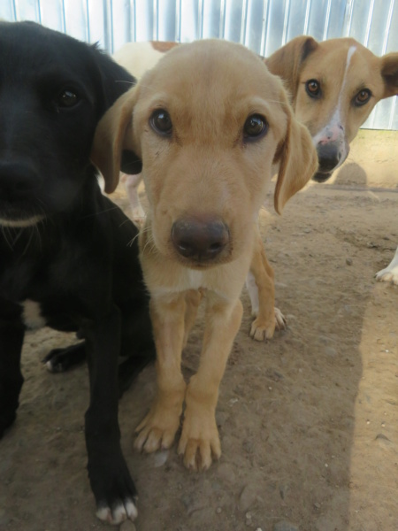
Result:
<instances>
[{"instance_id":1,"label":"central tan puppy's front paw nearest the black puppy","mask_svg":"<svg viewBox=\"0 0 398 531\"><path fill-rule=\"evenodd\" d=\"M134 448L152 452L170 448L180 426L180 416L185 392L174 392L167 397L158 396L148 415L135 428L138 434Z\"/></svg>"}]
</instances>

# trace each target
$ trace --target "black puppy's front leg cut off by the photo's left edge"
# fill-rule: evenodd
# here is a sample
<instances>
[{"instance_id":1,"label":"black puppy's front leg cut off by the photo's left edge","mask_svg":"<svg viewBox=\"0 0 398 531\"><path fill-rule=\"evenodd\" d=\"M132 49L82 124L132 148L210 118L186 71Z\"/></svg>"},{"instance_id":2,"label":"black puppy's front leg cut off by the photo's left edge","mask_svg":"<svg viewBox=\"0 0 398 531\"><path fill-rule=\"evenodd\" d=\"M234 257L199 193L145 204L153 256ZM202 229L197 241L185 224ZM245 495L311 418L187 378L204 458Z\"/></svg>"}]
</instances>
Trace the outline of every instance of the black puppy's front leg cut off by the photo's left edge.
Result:
<instances>
[{"instance_id":1,"label":"black puppy's front leg cut off by the photo's left edge","mask_svg":"<svg viewBox=\"0 0 398 531\"><path fill-rule=\"evenodd\" d=\"M17 416L19 392L24 381L20 372L24 334L19 316L11 319L0 316L0 438Z\"/></svg>"}]
</instances>

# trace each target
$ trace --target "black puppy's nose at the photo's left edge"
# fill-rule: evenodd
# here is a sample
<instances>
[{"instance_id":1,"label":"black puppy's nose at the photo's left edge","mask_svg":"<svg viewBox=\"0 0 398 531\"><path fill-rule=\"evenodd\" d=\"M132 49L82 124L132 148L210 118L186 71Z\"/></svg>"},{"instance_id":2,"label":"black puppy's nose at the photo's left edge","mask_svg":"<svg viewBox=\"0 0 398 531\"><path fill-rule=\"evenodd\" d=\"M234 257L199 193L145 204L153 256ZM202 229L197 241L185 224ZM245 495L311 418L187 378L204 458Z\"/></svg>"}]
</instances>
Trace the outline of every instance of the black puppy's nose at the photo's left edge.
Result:
<instances>
[{"instance_id":1,"label":"black puppy's nose at the photo's left edge","mask_svg":"<svg viewBox=\"0 0 398 531\"><path fill-rule=\"evenodd\" d=\"M39 175L26 164L0 162L0 196L8 201L28 198L40 186Z\"/></svg>"}]
</instances>

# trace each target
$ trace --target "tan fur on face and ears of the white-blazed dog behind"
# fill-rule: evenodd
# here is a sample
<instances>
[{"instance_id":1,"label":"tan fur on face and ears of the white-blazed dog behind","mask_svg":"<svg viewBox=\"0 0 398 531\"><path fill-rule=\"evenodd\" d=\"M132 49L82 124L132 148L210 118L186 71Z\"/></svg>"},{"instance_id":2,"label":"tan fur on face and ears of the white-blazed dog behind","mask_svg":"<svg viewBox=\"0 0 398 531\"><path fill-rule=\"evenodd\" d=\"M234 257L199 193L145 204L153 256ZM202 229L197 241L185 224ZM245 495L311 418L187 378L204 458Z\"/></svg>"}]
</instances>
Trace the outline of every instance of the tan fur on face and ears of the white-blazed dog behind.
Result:
<instances>
[{"instance_id":1,"label":"tan fur on face and ears of the white-blazed dog behind","mask_svg":"<svg viewBox=\"0 0 398 531\"><path fill-rule=\"evenodd\" d=\"M355 47L356 52L344 80L351 47ZM378 57L352 38L317 42L309 36L295 37L264 62L272 73L285 81L295 116L308 127L312 136L325 127L342 98L341 123L349 144L375 104L398 94L398 52ZM318 101L305 91L305 81L311 79L321 82L323 97ZM355 107L350 104L351 99L361 89L370 89L372 97L368 104Z\"/></svg>"}]
</instances>

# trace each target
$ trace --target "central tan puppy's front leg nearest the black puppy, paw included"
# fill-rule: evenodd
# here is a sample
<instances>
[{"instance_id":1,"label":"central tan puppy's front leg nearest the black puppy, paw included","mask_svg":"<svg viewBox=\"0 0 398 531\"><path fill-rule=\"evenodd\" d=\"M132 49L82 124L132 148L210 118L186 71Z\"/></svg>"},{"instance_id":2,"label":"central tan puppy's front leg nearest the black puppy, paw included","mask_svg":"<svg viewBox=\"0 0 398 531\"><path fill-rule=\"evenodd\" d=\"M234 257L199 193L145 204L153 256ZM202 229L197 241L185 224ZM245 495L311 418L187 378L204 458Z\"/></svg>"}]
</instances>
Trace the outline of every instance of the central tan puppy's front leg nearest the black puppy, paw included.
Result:
<instances>
[{"instance_id":1,"label":"central tan puppy's front leg nearest the black puppy, paw included","mask_svg":"<svg viewBox=\"0 0 398 531\"><path fill-rule=\"evenodd\" d=\"M137 450L148 452L172 445L187 387L181 373L185 293L152 297L149 304L157 348L157 395L136 428L139 433L134 443Z\"/></svg>"}]
</instances>

